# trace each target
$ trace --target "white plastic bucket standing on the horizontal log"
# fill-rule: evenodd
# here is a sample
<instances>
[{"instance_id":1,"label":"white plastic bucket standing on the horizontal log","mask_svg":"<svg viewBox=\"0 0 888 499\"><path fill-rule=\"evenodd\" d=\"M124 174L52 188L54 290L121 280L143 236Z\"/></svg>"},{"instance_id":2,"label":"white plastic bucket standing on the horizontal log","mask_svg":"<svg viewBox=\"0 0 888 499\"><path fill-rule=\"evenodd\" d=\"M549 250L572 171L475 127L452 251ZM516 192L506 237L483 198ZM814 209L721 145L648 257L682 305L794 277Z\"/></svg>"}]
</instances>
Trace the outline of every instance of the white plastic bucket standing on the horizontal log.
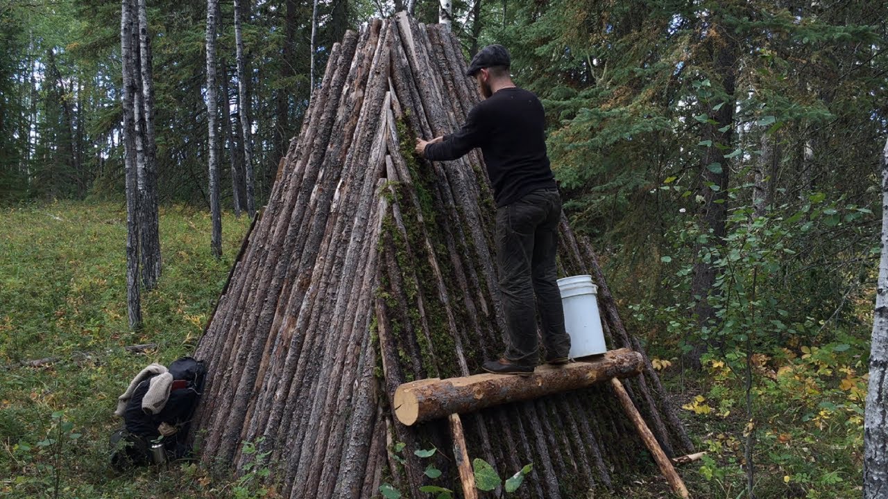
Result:
<instances>
[{"instance_id":1,"label":"white plastic bucket standing on the horizontal log","mask_svg":"<svg viewBox=\"0 0 888 499\"><path fill-rule=\"evenodd\" d=\"M558 280L564 325L570 335L570 356L574 359L607 352L599 315L598 286L591 275L574 275Z\"/></svg>"}]
</instances>

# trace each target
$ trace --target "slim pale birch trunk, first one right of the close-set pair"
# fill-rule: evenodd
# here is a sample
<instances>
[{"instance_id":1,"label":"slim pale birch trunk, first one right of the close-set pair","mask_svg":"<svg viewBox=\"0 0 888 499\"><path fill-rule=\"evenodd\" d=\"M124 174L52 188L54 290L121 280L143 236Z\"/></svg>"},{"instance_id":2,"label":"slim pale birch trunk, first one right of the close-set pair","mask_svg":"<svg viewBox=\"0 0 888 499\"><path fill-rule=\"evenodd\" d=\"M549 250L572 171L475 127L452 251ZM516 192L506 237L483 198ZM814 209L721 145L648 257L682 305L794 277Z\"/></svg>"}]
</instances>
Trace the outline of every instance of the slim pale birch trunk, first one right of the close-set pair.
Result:
<instances>
[{"instance_id":1,"label":"slim pale birch trunk, first one right of the close-set pair","mask_svg":"<svg viewBox=\"0 0 888 499\"><path fill-rule=\"evenodd\" d=\"M219 207L218 106L216 96L216 12L218 0L207 0L207 126L210 131L210 214L213 234L210 250L222 256L222 214Z\"/></svg>"}]
</instances>

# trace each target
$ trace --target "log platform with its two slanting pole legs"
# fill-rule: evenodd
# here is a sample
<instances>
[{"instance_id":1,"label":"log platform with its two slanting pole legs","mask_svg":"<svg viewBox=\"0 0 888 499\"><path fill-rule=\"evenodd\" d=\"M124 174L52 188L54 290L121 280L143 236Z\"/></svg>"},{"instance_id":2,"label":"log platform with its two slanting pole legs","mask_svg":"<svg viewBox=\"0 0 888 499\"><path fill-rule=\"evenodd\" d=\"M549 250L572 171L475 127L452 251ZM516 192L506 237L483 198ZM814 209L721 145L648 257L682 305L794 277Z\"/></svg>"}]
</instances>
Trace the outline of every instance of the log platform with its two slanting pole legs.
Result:
<instances>
[{"instance_id":1,"label":"log platform with its two slanting pole legs","mask_svg":"<svg viewBox=\"0 0 888 499\"><path fill-rule=\"evenodd\" d=\"M641 440L654 455L654 461L669 481L672 490L687 499L690 495L684 482L620 381L621 378L638 376L643 368L644 359L640 353L629 348L621 348L565 366L545 364L535 368L530 376L480 374L447 379L437 377L422 379L398 387L394 393L394 414L407 426L448 417L464 496L471 499L477 498L478 493L465 447L460 414L607 382L614 389L617 400L635 425Z\"/></svg>"}]
</instances>

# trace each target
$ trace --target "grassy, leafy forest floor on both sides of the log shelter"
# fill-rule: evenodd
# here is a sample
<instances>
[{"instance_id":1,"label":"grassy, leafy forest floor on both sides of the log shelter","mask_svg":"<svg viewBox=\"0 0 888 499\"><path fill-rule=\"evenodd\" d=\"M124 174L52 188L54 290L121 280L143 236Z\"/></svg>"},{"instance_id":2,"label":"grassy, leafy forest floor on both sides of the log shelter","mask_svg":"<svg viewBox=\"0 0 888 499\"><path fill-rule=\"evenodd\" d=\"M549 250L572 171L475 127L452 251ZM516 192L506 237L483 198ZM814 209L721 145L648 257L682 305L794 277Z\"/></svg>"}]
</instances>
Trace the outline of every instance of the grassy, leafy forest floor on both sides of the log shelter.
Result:
<instances>
[{"instance_id":1,"label":"grassy, leafy forest floor on both sides of the log shelter","mask_svg":"<svg viewBox=\"0 0 888 499\"><path fill-rule=\"evenodd\" d=\"M123 204L0 209L0 497L276 496L274 487L255 483L256 473L215 477L189 462L117 473L108 465L107 439L120 424L112 414L117 396L148 363L194 351L249 224L226 213L216 260L207 213L162 208L163 277L142 297L144 327L131 332ZM149 343L156 348L124 349ZM867 352L865 339L851 338L756 354L751 429L759 498L860 496ZM25 363L42 359L50 360ZM715 356L702 373L680 372L675 359L654 364L695 447L708 451L678 468L692 495L745 497L749 418L741 376ZM671 497L653 466L626 482L589 497Z\"/></svg>"}]
</instances>

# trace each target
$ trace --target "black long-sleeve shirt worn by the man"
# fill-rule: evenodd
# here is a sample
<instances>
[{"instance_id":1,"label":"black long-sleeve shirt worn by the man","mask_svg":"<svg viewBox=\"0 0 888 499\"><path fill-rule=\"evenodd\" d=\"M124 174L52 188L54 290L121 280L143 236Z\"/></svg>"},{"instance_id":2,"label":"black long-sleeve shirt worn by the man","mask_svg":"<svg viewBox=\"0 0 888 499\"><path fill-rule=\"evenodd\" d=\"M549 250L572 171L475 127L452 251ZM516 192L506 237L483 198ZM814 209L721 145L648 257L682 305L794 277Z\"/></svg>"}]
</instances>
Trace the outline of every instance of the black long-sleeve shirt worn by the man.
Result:
<instances>
[{"instance_id":1,"label":"black long-sleeve shirt worn by the man","mask_svg":"<svg viewBox=\"0 0 888 499\"><path fill-rule=\"evenodd\" d=\"M546 155L543 104L533 92L510 87L472 107L463 127L425 147L432 161L455 160L481 148L496 206L540 188L555 187Z\"/></svg>"}]
</instances>

